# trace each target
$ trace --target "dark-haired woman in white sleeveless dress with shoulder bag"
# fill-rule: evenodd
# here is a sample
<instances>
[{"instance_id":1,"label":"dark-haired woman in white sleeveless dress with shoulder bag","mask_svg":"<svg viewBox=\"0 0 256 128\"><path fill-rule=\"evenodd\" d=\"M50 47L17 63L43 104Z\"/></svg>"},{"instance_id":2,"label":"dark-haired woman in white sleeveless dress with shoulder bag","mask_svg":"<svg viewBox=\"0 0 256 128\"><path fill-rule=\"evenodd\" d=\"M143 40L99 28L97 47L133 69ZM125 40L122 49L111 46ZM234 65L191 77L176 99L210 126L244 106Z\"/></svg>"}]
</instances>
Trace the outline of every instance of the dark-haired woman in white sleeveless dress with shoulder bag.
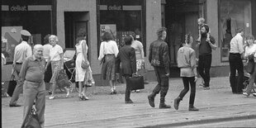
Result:
<instances>
[{"instance_id":1,"label":"dark-haired woman in white sleeveless dress with shoulder bag","mask_svg":"<svg viewBox=\"0 0 256 128\"><path fill-rule=\"evenodd\" d=\"M84 28L81 28L78 31L78 37L76 40L76 72L75 72L75 81L78 82L78 97L80 100L88 100L89 98L86 96L86 92L88 90L88 84L86 83L88 81L88 77L86 77L88 74L88 69L83 69L81 67L82 61L85 61L86 64L88 64L89 70L92 72L91 68L89 67L89 61L88 61L88 45L86 44L86 30Z\"/></svg>"}]
</instances>

